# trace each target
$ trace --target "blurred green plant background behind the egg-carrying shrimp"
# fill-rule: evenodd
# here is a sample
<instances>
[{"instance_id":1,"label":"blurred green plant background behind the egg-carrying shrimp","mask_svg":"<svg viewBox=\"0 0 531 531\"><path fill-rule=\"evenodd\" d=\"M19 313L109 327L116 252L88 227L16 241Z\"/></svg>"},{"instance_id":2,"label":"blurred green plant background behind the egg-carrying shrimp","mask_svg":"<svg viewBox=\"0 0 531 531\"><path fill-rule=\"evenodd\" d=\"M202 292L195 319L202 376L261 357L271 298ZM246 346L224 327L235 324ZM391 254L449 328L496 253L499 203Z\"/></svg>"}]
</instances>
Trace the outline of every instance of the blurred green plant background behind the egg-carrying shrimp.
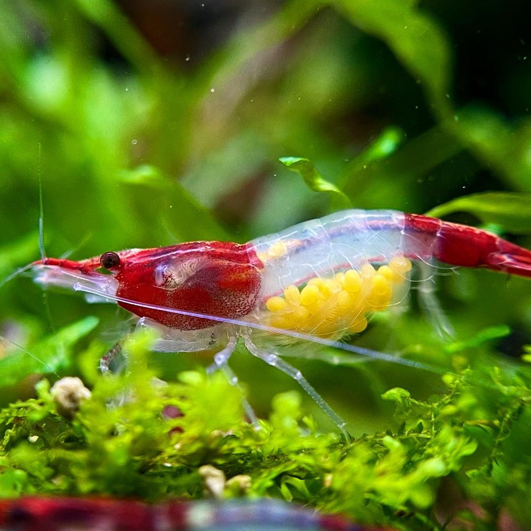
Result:
<instances>
[{"instance_id":1,"label":"blurred green plant background behind the egg-carrying shrimp","mask_svg":"<svg viewBox=\"0 0 531 531\"><path fill-rule=\"evenodd\" d=\"M0 278L39 258L39 179L46 252L72 259L194 239L245 242L337 208L282 166L282 156L309 158L356 208L425 212L476 192L531 192L525 5L2 3ZM481 221L466 211L449 219ZM518 228L506 236L530 246L531 226ZM375 320L358 343L449 369L509 364L523 352L531 331L528 282L461 270L438 284L456 328L450 346L415 301L399 318ZM114 305L43 296L31 278L0 289L0 334L35 354L54 331L99 318L72 350L91 345L97 355L69 362L57 353L61 374L96 366L133 325ZM477 336L498 325L509 326L494 331L506 336L501 341ZM0 348L4 359L30 361L8 341ZM296 384L243 354L233 367L265 415L271 396ZM166 378L209 361L155 357ZM436 374L381 362L294 364L354 434L392 422L384 390L427 396L439 386ZM31 389L7 383L1 401Z\"/></svg>"}]
</instances>

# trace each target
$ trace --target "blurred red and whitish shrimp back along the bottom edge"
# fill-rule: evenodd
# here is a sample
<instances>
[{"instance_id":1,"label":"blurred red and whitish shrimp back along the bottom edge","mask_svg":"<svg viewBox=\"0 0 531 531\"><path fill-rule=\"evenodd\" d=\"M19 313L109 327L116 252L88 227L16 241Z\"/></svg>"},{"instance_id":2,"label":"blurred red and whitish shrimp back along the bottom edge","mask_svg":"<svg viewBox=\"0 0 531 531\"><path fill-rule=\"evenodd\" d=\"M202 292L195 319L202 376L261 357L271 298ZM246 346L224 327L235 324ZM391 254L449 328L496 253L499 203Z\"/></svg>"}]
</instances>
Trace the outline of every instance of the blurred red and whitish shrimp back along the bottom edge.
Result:
<instances>
[{"instance_id":1,"label":"blurred red and whitish shrimp back along the bottom edge","mask_svg":"<svg viewBox=\"0 0 531 531\"><path fill-rule=\"evenodd\" d=\"M377 531L278 500L166 502L28 497L0 501L0 531ZM389 530L390 531L390 530Z\"/></svg>"}]
</instances>

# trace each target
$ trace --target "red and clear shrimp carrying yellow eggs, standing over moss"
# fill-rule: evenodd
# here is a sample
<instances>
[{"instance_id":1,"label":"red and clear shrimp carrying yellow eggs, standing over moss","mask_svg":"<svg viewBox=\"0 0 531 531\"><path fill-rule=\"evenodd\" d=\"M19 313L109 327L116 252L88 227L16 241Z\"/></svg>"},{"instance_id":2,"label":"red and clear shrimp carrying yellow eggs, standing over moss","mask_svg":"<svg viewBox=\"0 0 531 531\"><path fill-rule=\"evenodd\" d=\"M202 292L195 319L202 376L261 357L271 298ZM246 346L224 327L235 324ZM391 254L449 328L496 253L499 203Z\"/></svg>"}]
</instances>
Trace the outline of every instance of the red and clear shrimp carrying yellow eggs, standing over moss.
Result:
<instances>
[{"instance_id":1,"label":"red and clear shrimp carrying yellow eggs, standing over moss","mask_svg":"<svg viewBox=\"0 0 531 531\"><path fill-rule=\"evenodd\" d=\"M219 347L215 367L233 382L227 362L243 337L252 355L292 376L345 432L345 422L271 344L311 340L423 366L340 340L401 301L412 261L423 268L433 260L531 277L531 251L473 227L391 210L337 212L243 245L182 243L79 262L43 258L28 267L43 286L112 299L138 315L140 326L160 331L158 350ZM420 293L447 329L429 286ZM270 348L257 346L266 336Z\"/></svg>"}]
</instances>

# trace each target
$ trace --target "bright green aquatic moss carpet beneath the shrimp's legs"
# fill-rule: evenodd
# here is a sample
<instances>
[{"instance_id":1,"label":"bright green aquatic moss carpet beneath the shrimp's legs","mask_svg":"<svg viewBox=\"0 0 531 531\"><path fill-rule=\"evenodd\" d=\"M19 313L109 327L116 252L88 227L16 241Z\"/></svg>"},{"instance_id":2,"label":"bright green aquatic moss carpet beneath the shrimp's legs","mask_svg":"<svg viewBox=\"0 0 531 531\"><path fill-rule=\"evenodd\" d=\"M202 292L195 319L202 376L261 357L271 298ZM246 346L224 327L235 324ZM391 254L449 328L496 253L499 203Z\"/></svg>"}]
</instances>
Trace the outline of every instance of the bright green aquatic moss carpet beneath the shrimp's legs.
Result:
<instances>
[{"instance_id":1,"label":"bright green aquatic moss carpet beneath the shrimp's legs","mask_svg":"<svg viewBox=\"0 0 531 531\"><path fill-rule=\"evenodd\" d=\"M0 496L269 496L367 523L440 529L442 486L452 483L463 506L483 508L485 525L501 506L528 517L531 459L511 447L531 399L518 371L447 374L447 392L426 401L390 389L382 398L395 404L395 427L345 440L320 432L294 391L277 395L255 429L242 390L222 374L158 380L148 366L150 340L127 341L127 371L97 376L71 419L59 414L47 380L37 398L1 410Z\"/></svg>"}]
</instances>

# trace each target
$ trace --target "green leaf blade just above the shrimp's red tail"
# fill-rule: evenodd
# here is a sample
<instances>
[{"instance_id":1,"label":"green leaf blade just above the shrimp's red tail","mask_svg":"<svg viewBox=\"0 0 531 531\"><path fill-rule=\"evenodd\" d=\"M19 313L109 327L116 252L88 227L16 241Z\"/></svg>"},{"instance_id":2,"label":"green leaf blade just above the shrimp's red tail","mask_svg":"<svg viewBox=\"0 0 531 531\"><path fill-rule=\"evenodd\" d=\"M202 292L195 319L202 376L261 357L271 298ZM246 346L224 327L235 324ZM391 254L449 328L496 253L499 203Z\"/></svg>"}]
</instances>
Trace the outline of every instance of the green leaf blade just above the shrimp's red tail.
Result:
<instances>
[{"instance_id":1,"label":"green leaf blade just above the shrimp's red tail","mask_svg":"<svg viewBox=\"0 0 531 531\"><path fill-rule=\"evenodd\" d=\"M501 225L513 234L531 234L531 194L485 192L465 195L431 209L427 216L440 218L453 212L470 212L484 223Z\"/></svg>"}]
</instances>

